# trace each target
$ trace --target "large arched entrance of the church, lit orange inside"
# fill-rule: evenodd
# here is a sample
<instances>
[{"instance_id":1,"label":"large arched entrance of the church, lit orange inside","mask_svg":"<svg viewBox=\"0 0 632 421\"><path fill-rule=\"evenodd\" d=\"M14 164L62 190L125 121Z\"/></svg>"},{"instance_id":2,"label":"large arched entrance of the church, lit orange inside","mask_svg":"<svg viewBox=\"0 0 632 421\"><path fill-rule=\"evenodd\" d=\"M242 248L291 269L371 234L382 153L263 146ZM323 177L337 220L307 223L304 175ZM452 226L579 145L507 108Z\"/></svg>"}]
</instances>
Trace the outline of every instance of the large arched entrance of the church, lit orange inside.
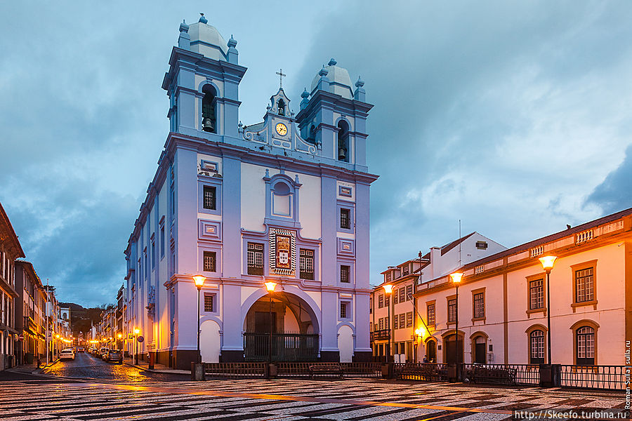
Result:
<instances>
[{"instance_id":1,"label":"large arched entrance of the church, lit orange inside","mask_svg":"<svg viewBox=\"0 0 632 421\"><path fill-rule=\"evenodd\" d=\"M246 313L246 361L316 361L319 345L317 317L298 295L264 295Z\"/></svg>"}]
</instances>

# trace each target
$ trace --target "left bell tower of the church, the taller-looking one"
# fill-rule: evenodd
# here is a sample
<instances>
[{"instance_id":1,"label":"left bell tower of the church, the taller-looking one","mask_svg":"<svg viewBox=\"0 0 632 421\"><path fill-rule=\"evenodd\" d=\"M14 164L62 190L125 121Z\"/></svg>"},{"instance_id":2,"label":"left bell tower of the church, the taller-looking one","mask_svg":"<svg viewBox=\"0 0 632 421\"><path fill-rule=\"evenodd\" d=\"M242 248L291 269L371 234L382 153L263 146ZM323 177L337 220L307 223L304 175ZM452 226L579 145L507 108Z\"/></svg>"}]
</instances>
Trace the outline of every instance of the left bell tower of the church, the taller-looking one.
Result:
<instances>
[{"instance_id":1,"label":"left bell tower of the church, the taller-looking one","mask_svg":"<svg viewBox=\"0 0 632 421\"><path fill-rule=\"evenodd\" d=\"M170 131L198 138L239 136L239 82L246 67L239 66L237 41L225 41L208 24L180 24L178 46L169 58L162 88L169 96Z\"/></svg>"}]
</instances>

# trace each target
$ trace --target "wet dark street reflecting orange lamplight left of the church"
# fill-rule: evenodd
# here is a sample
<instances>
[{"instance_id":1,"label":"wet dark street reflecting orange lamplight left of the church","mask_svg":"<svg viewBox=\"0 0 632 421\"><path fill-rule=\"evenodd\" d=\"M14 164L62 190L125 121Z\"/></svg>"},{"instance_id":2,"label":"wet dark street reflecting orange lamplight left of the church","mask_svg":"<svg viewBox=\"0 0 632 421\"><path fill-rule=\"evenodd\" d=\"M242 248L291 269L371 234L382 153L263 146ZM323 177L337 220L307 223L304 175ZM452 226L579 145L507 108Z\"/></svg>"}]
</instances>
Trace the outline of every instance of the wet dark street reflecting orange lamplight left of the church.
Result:
<instances>
[{"instance_id":1,"label":"wet dark street reflecting orange lamplight left of the church","mask_svg":"<svg viewBox=\"0 0 632 421\"><path fill-rule=\"evenodd\" d=\"M41 372L44 375L72 377L74 379L104 379L122 382L175 382L190 380L190 377L171 373L151 373L121 363L106 363L102 359L77 352L74 360L58 361Z\"/></svg>"}]
</instances>

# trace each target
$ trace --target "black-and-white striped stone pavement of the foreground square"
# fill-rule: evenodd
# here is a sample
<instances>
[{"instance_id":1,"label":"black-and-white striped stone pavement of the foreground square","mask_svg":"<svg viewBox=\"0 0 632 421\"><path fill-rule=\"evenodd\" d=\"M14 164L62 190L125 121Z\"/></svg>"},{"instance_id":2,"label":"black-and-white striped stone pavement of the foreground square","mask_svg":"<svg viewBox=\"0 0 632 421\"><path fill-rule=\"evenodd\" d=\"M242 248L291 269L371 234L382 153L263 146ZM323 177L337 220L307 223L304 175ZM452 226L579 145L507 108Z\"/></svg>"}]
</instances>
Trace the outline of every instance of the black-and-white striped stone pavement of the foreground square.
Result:
<instances>
[{"instance_id":1,"label":"black-and-white striped stone pavement of the foreground square","mask_svg":"<svg viewBox=\"0 0 632 421\"><path fill-rule=\"evenodd\" d=\"M625 395L615 392L377 379L0 383L2 421L513 420L513 410L592 412L624 405Z\"/></svg>"}]
</instances>

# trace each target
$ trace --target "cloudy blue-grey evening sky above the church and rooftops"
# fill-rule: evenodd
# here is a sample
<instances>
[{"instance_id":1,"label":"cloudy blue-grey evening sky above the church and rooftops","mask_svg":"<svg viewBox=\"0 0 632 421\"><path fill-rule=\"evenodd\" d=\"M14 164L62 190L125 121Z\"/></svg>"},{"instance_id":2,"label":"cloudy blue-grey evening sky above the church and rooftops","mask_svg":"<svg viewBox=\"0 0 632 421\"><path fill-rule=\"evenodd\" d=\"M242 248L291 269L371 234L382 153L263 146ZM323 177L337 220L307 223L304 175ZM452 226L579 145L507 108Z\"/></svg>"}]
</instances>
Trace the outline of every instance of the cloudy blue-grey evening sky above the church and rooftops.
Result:
<instances>
[{"instance_id":1,"label":"cloudy blue-grey evening sky above the church and rooftops","mask_svg":"<svg viewBox=\"0 0 632 421\"><path fill-rule=\"evenodd\" d=\"M279 67L366 81L371 281L478 231L515 246L632 207L630 1L4 1L0 201L60 300L114 302L183 19L237 39L240 119Z\"/></svg>"}]
</instances>

